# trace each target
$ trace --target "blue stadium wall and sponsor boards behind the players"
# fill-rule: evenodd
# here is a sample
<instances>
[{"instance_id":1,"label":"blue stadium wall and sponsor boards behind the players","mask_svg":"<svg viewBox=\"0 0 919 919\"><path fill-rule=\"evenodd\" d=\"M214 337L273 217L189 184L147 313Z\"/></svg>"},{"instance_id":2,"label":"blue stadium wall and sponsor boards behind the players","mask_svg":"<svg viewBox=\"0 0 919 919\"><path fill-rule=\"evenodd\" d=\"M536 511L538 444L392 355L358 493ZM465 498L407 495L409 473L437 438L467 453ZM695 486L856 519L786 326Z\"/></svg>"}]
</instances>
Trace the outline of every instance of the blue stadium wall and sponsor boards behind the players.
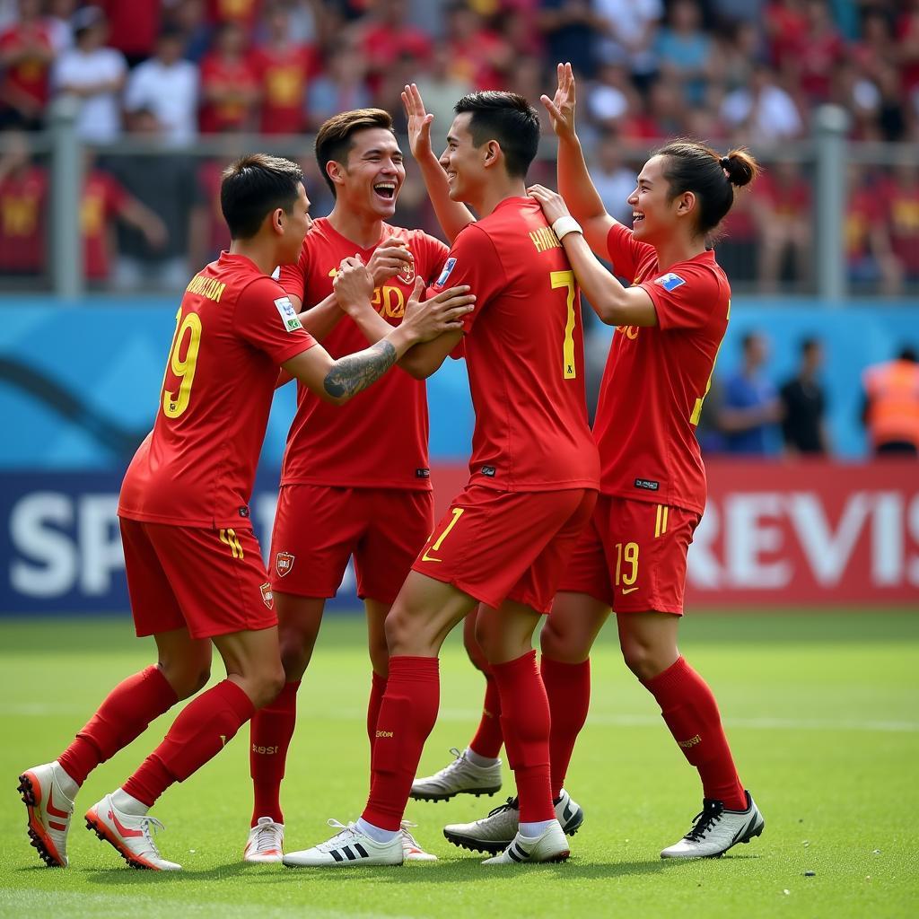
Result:
<instances>
[{"instance_id":1,"label":"blue stadium wall and sponsor boards behind the players","mask_svg":"<svg viewBox=\"0 0 919 919\"><path fill-rule=\"evenodd\" d=\"M127 608L115 508L121 474L149 429L175 302L10 302L0 327L0 615ZM718 369L730 372L751 329L773 344L770 373L789 375L805 335L827 352L834 445L847 460L709 463L709 511L690 551L693 606L919 606L919 474L858 462L860 371L917 336L919 308L810 301L734 304ZM604 332L606 330L603 330ZM462 362L430 381L438 504L464 480L472 414ZM253 500L267 546L278 464L294 407L278 393ZM353 608L353 574L335 606Z\"/></svg>"}]
</instances>

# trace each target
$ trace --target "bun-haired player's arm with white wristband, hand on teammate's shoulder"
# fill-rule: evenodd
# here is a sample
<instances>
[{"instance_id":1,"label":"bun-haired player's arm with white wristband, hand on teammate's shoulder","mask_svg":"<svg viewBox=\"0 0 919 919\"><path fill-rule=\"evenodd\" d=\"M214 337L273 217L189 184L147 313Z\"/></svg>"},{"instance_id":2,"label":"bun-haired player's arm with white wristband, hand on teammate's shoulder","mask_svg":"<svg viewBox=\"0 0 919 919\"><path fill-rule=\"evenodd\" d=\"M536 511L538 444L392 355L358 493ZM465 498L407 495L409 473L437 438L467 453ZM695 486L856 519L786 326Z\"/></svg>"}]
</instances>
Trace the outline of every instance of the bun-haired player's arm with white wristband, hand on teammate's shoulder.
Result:
<instances>
[{"instance_id":1,"label":"bun-haired player's arm with white wristband, hand on teammate's shoulder","mask_svg":"<svg viewBox=\"0 0 919 919\"><path fill-rule=\"evenodd\" d=\"M600 319L607 325L657 325L657 311L647 290L623 287L596 260L562 196L541 185L527 190L542 205L546 220L562 242L578 285Z\"/></svg>"}]
</instances>

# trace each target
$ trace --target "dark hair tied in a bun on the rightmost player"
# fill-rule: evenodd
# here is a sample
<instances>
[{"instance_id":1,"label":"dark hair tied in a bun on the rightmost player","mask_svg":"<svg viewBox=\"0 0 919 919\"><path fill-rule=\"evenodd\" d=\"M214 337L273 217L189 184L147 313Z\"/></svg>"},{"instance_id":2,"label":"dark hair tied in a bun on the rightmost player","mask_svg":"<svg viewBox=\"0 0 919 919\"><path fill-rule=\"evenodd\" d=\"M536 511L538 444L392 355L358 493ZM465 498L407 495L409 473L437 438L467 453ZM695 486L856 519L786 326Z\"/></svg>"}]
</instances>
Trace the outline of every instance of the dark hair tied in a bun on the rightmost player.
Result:
<instances>
[{"instance_id":1,"label":"dark hair tied in a bun on the rightmost player","mask_svg":"<svg viewBox=\"0 0 919 919\"><path fill-rule=\"evenodd\" d=\"M734 187L747 185L759 174L759 165L742 148L721 156L704 143L686 138L664 144L652 156L664 157L663 173L671 200L685 191L696 195L700 235L714 230L731 210Z\"/></svg>"}]
</instances>

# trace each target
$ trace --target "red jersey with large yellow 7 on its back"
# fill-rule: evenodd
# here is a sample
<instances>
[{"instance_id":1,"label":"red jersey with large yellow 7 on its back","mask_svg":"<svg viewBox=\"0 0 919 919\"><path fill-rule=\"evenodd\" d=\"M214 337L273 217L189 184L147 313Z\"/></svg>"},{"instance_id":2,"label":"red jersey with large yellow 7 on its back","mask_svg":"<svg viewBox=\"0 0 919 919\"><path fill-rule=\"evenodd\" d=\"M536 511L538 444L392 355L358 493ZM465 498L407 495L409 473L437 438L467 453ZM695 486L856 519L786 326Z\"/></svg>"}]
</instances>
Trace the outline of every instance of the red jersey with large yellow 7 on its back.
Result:
<instances>
[{"instance_id":1,"label":"red jersey with large yellow 7 on its back","mask_svg":"<svg viewBox=\"0 0 919 919\"><path fill-rule=\"evenodd\" d=\"M580 292L532 198L507 198L453 243L429 295L469 284L463 350L475 408L471 482L506 492L596 488Z\"/></svg>"}]
</instances>

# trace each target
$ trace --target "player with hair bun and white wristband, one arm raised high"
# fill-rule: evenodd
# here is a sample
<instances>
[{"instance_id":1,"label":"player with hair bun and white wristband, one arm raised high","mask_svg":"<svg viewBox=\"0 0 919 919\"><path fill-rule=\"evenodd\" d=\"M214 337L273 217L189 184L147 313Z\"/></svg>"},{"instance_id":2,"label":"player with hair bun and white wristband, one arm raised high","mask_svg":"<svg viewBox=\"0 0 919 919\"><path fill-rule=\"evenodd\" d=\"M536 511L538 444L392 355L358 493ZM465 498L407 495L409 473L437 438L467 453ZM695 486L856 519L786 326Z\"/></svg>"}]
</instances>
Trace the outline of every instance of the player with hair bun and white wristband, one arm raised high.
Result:
<instances>
[{"instance_id":1,"label":"player with hair bun and white wristband, one arm raised high","mask_svg":"<svg viewBox=\"0 0 919 919\"><path fill-rule=\"evenodd\" d=\"M706 239L731 209L733 187L750 182L757 167L743 151L722 157L700 143L668 143L638 176L629 230L607 214L587 173L569 64L559 65L558 91L543 103L559 136L562 195L540 186L530 194L562 239L587 299L605 323L618 326L594 424L600 497L541 635L552 791L561 792L584 726L590 649L612 607L626 664L661 706L705 794L693 828L661 855L717 856L761 834L764 822L737 776L715 698L680 655L676 635L686 551L706 500L695 428L731 308L728 279ZM631 287L591 250L617 275L634 278ZM511 801L444 832L458 845L489 851L515 827Z\"/></svg>"}]
</instances>

